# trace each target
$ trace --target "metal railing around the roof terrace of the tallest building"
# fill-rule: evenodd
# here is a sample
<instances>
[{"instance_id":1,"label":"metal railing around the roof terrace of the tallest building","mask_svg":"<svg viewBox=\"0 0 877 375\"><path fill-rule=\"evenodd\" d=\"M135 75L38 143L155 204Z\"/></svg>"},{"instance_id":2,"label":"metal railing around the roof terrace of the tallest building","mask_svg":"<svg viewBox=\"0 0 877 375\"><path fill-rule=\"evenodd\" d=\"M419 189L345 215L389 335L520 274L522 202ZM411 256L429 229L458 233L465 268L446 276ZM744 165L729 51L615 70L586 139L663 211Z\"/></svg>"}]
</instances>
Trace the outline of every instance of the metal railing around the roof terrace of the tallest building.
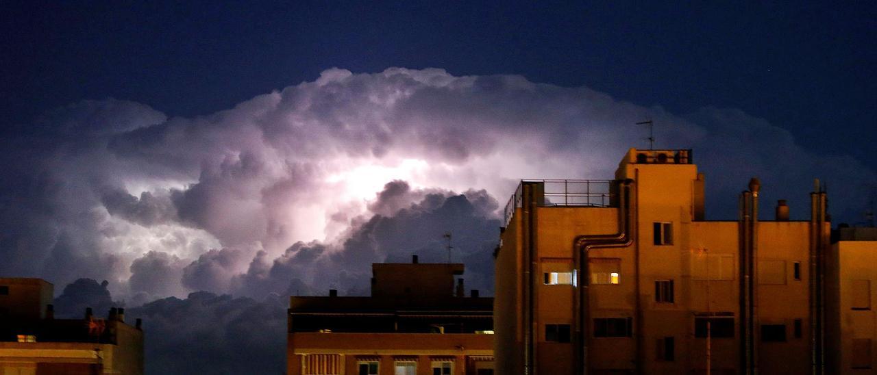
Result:
<instances>
[{"instance_id":1,"label":"metal railing around the roof terrace of the tallest building","mask_svg":"<svg viewBox=\"0 0 877 375\"><path fill-rule=\"evenodd\" d=\"M509 225L515 209L521 207L526 182L542 183L542 207L611 207L615 201L612 180L521 180L503 210L503 228Z\"/></svg>"}]
</instances>

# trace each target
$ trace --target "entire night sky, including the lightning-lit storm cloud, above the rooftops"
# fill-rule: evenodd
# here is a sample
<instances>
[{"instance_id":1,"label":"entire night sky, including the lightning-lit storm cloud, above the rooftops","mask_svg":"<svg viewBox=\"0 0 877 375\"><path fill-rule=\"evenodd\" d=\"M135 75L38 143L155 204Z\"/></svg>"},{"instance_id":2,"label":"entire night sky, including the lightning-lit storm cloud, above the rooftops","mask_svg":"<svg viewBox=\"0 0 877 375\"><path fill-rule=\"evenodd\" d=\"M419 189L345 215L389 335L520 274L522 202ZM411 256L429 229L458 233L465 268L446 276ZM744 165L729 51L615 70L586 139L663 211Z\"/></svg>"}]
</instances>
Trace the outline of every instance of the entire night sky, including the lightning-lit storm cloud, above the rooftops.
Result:
<instances>
[{"instance_id":1,"label":"entire night sky, including the lightning-lit storm cloud, above the rooftops","mask_svg":"<svg viewBox=\"0 0 877 375\"><path fill-rule=\"evenodd\" d=\"M492 294L515 180L608 179L646 119L710 219L752 176L793 219L814 178L835 223L877 194L873 3L0 9L0 275L124 304L149 373L280 373L287 296L446 231Z\"/></svg>"}]
</instances>

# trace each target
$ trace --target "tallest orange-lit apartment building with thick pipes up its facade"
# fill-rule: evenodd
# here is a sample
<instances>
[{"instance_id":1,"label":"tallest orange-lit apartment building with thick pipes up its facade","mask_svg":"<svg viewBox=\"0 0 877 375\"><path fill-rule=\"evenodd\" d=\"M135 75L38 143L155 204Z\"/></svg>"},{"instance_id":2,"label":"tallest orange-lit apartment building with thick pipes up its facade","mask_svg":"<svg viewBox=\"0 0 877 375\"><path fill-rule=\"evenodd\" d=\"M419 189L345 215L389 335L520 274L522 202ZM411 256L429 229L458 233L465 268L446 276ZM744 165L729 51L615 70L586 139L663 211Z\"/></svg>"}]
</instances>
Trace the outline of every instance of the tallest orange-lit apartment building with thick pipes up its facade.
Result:
<instances>
[{"instance_id":1,"label":"tallest orange-lit apartment building with thick pipes up its facade","mask_svg":"<svg viewBox=\"0 0 877 375\"><path fill-rule=\"evenodd\" d=\"M631 149L612 180L522 180L496 253L496 371L822 373L826 195L810 219L704 220L690 150Z\"/></svg>"}]
</instances>

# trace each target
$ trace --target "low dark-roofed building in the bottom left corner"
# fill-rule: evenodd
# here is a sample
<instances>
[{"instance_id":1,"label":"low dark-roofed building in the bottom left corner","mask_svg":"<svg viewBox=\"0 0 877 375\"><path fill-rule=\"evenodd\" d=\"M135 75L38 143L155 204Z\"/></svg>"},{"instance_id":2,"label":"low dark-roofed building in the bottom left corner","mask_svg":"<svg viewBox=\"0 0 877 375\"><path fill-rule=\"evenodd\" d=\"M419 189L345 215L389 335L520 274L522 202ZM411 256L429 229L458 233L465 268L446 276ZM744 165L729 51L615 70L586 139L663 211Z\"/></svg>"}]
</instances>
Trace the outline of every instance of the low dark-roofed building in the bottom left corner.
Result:
<instances>
[{"instance_id":1,"label":"low dark-roofed building in the bottom left corner","mask_svg":"<svg viewBox=\"0 0 877 375\"><path fill-rule=\"evenodd\" d=\"M143 373L140 320L125 309L106 319L55 319L53 285L43 279L0 279L0 374L94 375Z\"/></svg>"}]
</instances>

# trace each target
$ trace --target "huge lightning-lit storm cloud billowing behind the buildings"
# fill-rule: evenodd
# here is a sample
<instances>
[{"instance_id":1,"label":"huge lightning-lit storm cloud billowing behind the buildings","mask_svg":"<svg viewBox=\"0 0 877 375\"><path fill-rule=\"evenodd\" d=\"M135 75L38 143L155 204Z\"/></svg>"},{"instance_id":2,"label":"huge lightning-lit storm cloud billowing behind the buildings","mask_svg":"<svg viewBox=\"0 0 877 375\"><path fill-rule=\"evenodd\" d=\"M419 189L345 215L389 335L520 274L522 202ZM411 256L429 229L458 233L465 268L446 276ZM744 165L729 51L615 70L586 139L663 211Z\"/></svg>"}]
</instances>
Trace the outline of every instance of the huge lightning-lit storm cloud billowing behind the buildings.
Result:
<instances>
[{"instance_id":1,"label":"huge lightning-lit storm cloud billowing behind the buildings","mask_svg":"<svg viewBox=\"0 0 877 375\"><path fill-rule=\"evenodd\" d=\"M484 254L516 180L610 178L628 147L645 145L644 119L658 146L695 150L712 217L732 218L757 175L765 199L788 199L793 216L821 177L835 216L852 221L875 180L859 161L806 150L738 110L672 114L515 75L329 69L201 117L75 103L0 140L11 166L0 272L111 279L119 296L354 293L371 262L440 253L440 233L453 230L473 251L460 260L475 285L489 289ZM406 238L422 230L411 223L434 232ZM334 276L315 286L315 272Z\"/></svg>"}]
</instances>

